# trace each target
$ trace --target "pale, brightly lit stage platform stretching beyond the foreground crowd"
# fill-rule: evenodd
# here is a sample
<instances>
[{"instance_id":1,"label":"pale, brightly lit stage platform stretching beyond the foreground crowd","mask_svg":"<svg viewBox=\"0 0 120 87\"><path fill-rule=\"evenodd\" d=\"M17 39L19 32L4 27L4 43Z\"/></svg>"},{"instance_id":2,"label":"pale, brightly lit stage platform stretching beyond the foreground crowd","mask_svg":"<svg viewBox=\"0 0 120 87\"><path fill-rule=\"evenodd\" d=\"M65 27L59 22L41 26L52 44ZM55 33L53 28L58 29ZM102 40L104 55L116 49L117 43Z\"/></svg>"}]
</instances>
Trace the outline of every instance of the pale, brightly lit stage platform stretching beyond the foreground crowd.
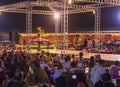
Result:
<instances>
[{"instance_id":1,"label":"pale, brightly lit stage platform stretching beyond the foreground crowd","mask_svg":"<svg viewBox=\"0 0 120 87\"><path fill-rule=\"evenodd\" d=\"M45 49L44 49L45 50ZM120 54L105 54L105 53L90 53L87 52L86 50L55 50L55 49L49 49L49 50L45 50L45 51L49 51L50 53L55 53L55 54L62 54L62 53L66 53L66 54L75 54L76 56L79 55L79 52L83 52L84 53L84 58L90 58L90 56L94 56L97 54L101 55L101 59L104 60L108 60L108 61L116 61L119 60L120 61ZM37 50L32 50L32 53L37 53Z\"/></svg>"}]
</instances>

